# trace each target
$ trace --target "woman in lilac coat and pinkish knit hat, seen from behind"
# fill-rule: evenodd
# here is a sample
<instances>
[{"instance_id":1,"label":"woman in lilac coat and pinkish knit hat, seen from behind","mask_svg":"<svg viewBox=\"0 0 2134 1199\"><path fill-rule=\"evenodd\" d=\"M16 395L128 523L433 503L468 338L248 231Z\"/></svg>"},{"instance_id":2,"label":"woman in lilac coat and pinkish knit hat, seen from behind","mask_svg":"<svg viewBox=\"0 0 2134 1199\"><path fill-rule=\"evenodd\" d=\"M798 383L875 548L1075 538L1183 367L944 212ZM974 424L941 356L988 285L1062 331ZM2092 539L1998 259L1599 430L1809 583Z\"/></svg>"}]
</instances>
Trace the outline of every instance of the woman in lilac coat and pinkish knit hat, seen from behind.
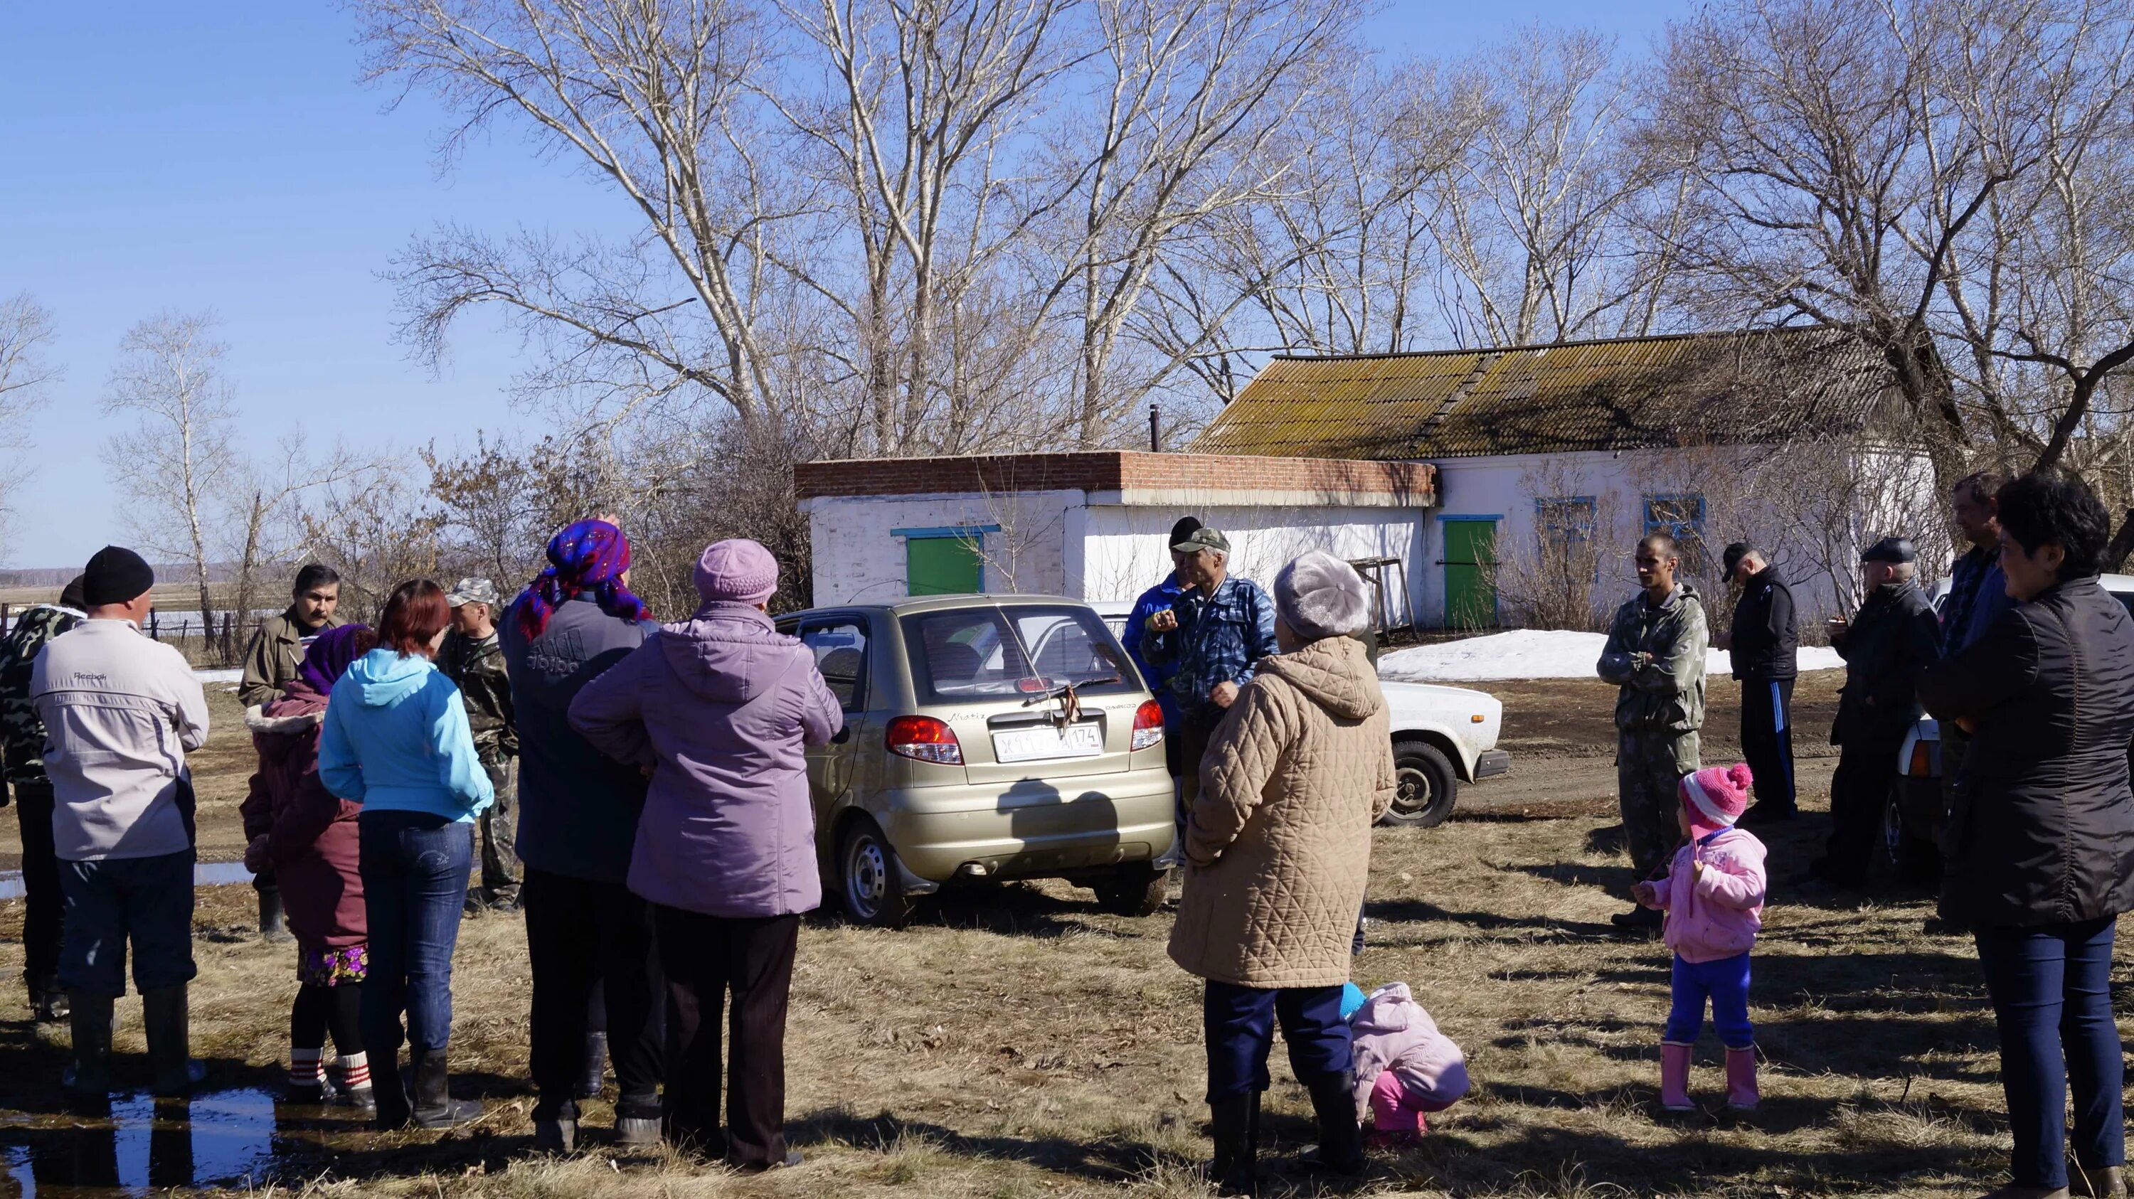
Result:
<instances>
[{"instance_id":1,"label":"woman in lilac coat and pinkish knit hat, seen from behind","mask_svg":"<svg viewBox=\"0 0 2134 1199\"><path fill-rule=\"evenodd\" d=\"M719 1131L719 1016L734 1003L726 1161L798 1165L785 1148L785 998L800 913L822 905L807 747L845 719L798 638L764 604L779 563L749 540L696 563L696 617L662 625L570 704L602 753L651 770L630 890L653 905L668 992L666 1126Z\"/></svg>"}]
</instances>

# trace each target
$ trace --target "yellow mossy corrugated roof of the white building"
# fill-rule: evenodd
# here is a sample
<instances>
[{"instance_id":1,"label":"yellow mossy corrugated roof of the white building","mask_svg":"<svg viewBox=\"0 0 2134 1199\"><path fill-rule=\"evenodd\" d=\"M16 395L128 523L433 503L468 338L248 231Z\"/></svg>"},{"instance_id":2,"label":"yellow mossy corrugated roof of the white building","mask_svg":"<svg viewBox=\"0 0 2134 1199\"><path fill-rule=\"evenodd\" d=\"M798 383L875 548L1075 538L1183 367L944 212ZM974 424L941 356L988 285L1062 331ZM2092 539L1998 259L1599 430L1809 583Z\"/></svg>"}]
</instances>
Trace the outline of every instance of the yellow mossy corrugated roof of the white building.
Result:
<instances>
[{"instance_id":1,"label":"yellow mossy corrugated roof of the white building","mask_svg":"<svg viewBox=\"0 0 2134 1199\"><path fill-rule=\"evenodd\" d=\"M1820 329L1278 356L1191 450L1462 459L1771 442L1859 427L1889 367Z\"/></svg>"}]
</instances>

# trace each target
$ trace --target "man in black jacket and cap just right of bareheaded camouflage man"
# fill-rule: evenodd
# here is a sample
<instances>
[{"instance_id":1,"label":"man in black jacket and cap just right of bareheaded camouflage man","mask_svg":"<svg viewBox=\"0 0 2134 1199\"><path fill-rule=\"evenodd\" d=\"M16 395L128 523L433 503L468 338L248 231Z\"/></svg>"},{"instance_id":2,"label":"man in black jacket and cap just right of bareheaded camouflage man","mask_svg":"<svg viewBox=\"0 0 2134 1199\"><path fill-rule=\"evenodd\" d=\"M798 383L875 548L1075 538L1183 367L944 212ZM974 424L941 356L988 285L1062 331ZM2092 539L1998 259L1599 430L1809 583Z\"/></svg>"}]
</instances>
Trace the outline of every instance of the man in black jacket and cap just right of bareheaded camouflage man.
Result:
<instances>
[{"instance_id":1,"label":"man in black jacket and cap just right of bareheaded camouflage man","mask_svg":"<svg viewBox=\"0 0 2134 1199\"><path fill-rule=\"evenodd\" d=\"M1793 819L1793 681L1801 672L1793 591L1771 555L1748 542L1726 546L1720 563L1726 582L1741 587L1733 629L1720 636L1741 683L1741 757L1756 774L1756 806L1741 824Z\"/></svg>"}]
</instances>

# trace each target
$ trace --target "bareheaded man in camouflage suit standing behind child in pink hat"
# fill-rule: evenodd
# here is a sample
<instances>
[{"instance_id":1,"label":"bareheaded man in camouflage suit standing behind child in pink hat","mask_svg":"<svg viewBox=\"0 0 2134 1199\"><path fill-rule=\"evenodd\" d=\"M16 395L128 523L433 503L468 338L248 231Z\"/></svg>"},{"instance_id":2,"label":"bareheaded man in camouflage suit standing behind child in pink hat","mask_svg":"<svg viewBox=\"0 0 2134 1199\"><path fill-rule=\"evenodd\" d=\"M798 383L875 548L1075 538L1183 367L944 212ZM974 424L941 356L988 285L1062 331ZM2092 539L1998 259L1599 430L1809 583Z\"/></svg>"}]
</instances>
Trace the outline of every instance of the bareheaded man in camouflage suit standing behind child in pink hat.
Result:
<instances>
[{"instance_id":1,"label":"bareheaded man in camouflage suit standing behind child in pink hat","mask_svg":"<svg viewBox=\"0 0 2134 1199\"><path fill-rule=\"evenodd\" d=\"M1699 768L1697 734L1705 725L1705 651L1711 644L1705 606L1688 580L1675 580L1682 550L1675 538L1652 533L1637 544L1643 587L1615 610L1598 674L1615 698L1615 787L1630 866L1641 879L1675 851L1675 787ZM1633 907L1620 928L1658 928L1660 913Z\"/></svg>"}]
</instances>

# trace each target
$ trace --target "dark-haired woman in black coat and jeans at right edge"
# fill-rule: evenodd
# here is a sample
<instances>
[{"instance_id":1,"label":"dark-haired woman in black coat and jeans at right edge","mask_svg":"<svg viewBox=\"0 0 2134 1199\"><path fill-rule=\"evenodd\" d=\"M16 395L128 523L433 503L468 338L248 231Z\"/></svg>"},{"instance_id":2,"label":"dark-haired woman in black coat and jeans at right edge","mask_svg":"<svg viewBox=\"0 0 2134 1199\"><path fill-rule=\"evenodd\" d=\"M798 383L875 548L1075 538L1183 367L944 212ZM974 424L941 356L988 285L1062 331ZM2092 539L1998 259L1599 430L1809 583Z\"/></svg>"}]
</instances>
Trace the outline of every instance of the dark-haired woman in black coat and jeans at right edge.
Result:
<instances>
[{"instance_id":1,"label":"dark-haired woman in black coat and jeans at right edge","mask_svg":"<svg viewBox=\"0 0 2134 1199\"><path fill-rule=\"evenodd\" d=\"M2098 585L2111 518L2057 474L2000 491L2017 606L1925 670L1918 698L1972 734L1942 834L1942 915L1970 926L2014 1133L2002 1199L2068 1195L2066 1101L2089 1195L2125 1195L2113 924L2134 909L2134 619Z\"/></svg>"}]
</instances>

